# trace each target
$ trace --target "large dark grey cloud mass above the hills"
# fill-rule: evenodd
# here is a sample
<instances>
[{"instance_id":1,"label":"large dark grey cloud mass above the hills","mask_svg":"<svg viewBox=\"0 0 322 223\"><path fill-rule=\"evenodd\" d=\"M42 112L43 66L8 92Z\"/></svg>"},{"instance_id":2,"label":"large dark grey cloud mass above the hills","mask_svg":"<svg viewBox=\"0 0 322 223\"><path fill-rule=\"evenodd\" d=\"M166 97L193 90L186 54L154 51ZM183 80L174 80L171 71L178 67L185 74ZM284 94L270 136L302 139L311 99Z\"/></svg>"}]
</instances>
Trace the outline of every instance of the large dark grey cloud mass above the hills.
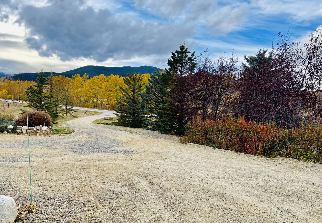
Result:
<instances>
[{"instance_id":1,"label":"large dark grey cloud mass above the hills","mask_svg":"<svg viewBox=\"0 0 322 223\"><path fill-rule=\"evenodd\" d=\"M29 30L25 42L41 56L61 60L92 58L129 59L165 54L193 35L182 24L144 22L109 9L95 11L83 1L52 1L51 5L25 5L19 23Z\"/></svg>"}]
</instances>

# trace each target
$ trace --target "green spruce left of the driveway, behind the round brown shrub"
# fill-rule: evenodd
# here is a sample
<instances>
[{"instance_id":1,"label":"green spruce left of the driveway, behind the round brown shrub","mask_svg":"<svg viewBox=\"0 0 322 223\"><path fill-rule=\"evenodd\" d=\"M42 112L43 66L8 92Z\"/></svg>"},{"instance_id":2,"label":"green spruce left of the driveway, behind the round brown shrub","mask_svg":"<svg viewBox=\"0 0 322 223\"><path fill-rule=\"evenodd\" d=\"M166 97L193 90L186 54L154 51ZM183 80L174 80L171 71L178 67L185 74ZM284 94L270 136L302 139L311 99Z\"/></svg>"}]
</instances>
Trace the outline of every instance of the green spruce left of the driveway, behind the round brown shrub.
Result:
<instances>
[{"instance_id":1,"label":"green spruce left of the driveway, behind the round brown shrub","mask_svg":"<svg viewBox=\"0 0 322 223\"><path fill-rule=\"evenodd\" d=\"M26 88L26 107L33 108L36 111L45 111L52 117L52 120L58 118L59 114L56 110L58 104L53 100L53 94L48 94L44 91L45 86L48 84L45 74L41 71L37 77L37 83L33 86Z\"/></svg>"}]
</instances>

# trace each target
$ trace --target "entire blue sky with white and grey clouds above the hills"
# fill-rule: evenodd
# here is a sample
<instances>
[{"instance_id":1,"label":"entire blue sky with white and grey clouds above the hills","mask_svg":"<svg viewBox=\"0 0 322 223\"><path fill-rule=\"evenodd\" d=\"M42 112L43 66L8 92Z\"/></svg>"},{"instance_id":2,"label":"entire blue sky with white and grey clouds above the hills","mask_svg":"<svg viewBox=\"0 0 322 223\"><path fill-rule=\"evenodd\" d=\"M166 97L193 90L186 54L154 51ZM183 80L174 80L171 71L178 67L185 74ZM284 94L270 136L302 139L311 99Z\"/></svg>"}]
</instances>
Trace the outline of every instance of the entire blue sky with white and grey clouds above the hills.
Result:
<instances>
[{"instance_id":1,"label":"entire blue sky with white and grey clouds above the hills","mask_svg":"<svg viewBox=\"0 0 322 223\"><path fill-rule=\"evenodd\" d=\"M0 0L0 72L164 68L183 43L242 58L278 32L304 39L321 23L321 0Z\"/></svg>"}]
</instances>

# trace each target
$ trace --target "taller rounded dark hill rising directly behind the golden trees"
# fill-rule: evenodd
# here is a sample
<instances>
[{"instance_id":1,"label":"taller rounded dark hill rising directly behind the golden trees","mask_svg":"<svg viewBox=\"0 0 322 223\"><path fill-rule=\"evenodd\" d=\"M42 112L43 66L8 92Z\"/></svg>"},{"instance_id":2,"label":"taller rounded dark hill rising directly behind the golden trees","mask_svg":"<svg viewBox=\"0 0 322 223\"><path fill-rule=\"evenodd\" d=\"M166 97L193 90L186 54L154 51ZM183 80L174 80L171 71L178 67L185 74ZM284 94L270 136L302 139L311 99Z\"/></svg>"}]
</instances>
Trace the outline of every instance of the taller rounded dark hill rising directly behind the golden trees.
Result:
<instances>
[{"instance_id":1,"label":"taller rounded dark hill rising directly behind the golden trees","mask_svg":"<svg viewBox=\"0 0 322 223\"><path fill-rule=\"evenodd\" d=\"M130 66L126 66L126 67L105 67L105 66L84 66L84 67L80 67L71 71L66 71L63 72L62 74L66 73L66 74L81 74L83 75L84 73L86 73L89 76L97 76L101 73L104 73L106 76L109 76L110 74L118 74L122 77L125 77L126 74L128 72L132 72L132 73L152 73L155 69L159 69L160 71L162 69L160 68L156 68L156 67L151 67L151 66L140 66L140 67L130 67Z\"/></svg>"}]
</instances>

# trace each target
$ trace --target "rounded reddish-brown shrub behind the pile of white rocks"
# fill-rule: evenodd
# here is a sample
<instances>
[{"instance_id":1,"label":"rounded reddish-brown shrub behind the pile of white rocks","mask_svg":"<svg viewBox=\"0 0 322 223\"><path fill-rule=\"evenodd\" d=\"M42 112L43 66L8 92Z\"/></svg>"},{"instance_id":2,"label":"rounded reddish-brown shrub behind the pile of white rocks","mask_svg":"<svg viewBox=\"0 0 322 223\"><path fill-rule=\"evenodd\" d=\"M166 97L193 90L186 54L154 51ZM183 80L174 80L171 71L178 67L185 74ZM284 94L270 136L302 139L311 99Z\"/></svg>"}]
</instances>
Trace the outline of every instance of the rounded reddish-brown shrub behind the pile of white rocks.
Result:
<instances>
[{"instance_id":1,"label":"rounded reddish-brown shrub behind the pile of white rocks","mask_svg":"<svg viewBox=\"0 0 322 223\"><path fill-rule=\"evenodd\" d=\"M44 122L45 122L45 115L46 115L45 126L51 126L52 118L50 117L50 115L48 113L46 113L46 112L38 112L38 111L28 112L28 125L29 125L29 127L43 125ZM15 125L27 126L27 114L26 114L26 112L24 114L20 115L15 120Z\"/></svg>"}]
</instances>

